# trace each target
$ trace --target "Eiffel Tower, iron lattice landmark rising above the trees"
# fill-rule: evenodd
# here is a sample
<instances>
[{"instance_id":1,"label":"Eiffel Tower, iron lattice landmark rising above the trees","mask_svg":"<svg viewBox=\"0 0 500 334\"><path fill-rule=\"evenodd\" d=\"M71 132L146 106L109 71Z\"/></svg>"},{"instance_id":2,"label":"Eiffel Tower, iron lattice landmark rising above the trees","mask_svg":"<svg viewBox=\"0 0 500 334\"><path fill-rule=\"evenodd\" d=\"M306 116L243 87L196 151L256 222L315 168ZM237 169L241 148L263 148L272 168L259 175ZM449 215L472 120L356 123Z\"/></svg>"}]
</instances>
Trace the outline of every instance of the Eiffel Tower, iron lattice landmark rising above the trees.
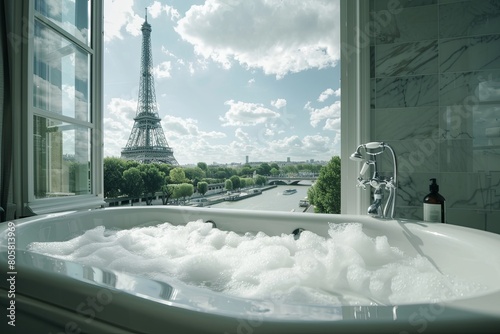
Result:
<instances>
[{"instance_id":1,"label":"Eiffel Tower, iron lattice landmark rising above the trees","mask_svg":"<svg viewBox=\"0 0 500 334\"><path fill-rule=\"evenodd\" d=\"M134 118L134 126L121 157L140 163L162 162L179 165L174 158L174 151L168 146L163 133L156 105L153 78L153 57L151 53L151 25L146 18L142 24L141 79L139 83L139 101Z\"/></svg>"}]
</instances>

